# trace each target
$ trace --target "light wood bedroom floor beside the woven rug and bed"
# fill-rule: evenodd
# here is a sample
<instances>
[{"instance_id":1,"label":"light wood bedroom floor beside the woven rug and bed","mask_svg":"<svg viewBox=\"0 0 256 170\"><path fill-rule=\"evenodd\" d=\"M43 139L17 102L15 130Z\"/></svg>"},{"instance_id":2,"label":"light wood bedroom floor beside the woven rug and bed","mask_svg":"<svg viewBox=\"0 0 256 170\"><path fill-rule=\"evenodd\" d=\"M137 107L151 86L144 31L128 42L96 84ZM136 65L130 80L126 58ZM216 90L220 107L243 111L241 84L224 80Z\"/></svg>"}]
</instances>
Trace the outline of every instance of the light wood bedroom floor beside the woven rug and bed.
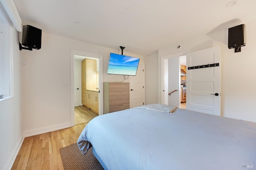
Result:
<instances>
[{"instance_id":1,"label":"light wood bedroom floor beside the woven rug and bed","mask_svg":"<svg viewBox=\"0 0 256 170\"><path fill-rule=\"evenodd\" d=\"M76 143L86 124L26 137L12 170L63 170L60 148Z\"/></svg>"}]
</instances>

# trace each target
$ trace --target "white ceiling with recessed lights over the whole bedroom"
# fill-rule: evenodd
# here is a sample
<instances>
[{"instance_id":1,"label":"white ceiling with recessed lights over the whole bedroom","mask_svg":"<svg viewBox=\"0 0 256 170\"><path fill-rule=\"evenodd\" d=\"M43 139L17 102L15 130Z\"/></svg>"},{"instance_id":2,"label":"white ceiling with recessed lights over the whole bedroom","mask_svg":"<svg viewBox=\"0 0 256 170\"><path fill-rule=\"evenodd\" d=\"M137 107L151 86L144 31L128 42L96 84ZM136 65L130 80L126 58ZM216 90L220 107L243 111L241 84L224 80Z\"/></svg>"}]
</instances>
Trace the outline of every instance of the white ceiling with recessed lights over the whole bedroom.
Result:
<instances>
[{"instance_id":1,"label":"white ceiling with recessed lights over the whole bedroom","mask_svg":"<svg viewBox=\"0 0 256 170\"><path fill-rule=\"evenodd\" d=\"M129 53L168 45L256 19L256 0L14 0L23 25ZM79 22L80 25L74 24ZM138 45L141 44L141 45Z\"/></svg>"}]
</instances>

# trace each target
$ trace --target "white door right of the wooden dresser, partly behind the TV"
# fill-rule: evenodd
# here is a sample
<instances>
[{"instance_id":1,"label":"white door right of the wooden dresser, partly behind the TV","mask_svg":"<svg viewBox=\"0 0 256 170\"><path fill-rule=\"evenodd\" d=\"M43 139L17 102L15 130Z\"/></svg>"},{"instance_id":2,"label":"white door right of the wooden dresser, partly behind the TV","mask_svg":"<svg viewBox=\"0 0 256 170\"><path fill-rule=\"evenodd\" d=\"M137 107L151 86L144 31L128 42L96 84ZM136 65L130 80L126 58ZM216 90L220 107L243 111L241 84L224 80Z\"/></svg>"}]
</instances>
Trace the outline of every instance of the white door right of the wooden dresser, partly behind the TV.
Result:
<instances>
[{"instance_id":1,"label":"white door right of the wooden dresser, partly behind the TV","mask_svg":"<svg viewBox=\"0 0 256 170\"><path fill-rule=\"evenodd\" d=\"M139 64L136 76L130 76L130 108L145 103L145 72L144 64Z\"/></svg>"}]
</instances>

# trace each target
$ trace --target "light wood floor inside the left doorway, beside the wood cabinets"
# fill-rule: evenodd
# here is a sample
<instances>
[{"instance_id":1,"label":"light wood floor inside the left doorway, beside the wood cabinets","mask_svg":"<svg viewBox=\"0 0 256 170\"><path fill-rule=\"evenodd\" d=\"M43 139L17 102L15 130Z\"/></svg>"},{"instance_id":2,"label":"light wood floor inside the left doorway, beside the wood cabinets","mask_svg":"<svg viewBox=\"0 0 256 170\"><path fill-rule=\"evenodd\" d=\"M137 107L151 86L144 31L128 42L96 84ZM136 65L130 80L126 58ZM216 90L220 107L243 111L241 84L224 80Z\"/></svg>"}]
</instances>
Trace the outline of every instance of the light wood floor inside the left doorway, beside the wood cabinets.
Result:
<instances>
[{"instance_id":1,"label":"light wood floor inside the left doorway, beside the wood cabinets","mask_svg":"<svg viewBox=\"0 0 256 170\"><path fill-rule=\"evenodd\" d=\"M98 116L98 113L95 113L91 109L85 106L75 106L75 125L82 123L88 123L94 117Z\"/></svg>"}]
</instances>

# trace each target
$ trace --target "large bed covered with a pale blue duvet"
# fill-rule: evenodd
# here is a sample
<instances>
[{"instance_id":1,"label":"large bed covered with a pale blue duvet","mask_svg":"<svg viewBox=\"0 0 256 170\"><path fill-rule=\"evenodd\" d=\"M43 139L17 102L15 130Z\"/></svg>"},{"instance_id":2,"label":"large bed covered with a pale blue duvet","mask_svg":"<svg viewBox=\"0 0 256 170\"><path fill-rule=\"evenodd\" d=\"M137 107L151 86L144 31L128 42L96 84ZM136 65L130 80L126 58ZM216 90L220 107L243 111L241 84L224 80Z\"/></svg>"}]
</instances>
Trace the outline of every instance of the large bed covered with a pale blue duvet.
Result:
<instances>
[{"instance_id":1,"label":"large bed covered with a pale blue duvet","mask_svg":"<svg viewBox=\"0 0 256 170\"><path fill-rule=\"evenodd\" d=\"M133 108L95 117L77 141L105 170L256 169L256 123L185 109Z\"/></svg>"}]
</instances>

